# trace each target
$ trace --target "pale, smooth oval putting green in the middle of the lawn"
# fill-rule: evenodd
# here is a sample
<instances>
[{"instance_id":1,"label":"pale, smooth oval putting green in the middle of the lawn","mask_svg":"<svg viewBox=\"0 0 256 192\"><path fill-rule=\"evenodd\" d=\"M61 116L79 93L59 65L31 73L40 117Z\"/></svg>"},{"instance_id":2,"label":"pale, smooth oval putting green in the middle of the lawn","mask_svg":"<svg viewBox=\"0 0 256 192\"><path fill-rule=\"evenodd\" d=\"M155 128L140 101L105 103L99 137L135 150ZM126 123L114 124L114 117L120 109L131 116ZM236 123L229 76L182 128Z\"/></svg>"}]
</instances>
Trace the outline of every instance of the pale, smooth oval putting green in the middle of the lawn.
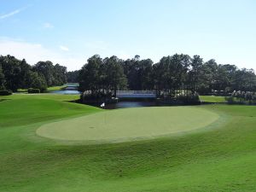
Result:
<instances>
[{"instance_id":1,"label":"pale, smooth oval putting green in the middle of the lawn","mask_svg":"<svg viewBox=\"0 0 256 192\"><path fill-rule=\"evenodd\" d=\"M129 141L203 128L218 119L203 108L126 108L42 125L42 137L69 141Z\"/></svg>"}]
</instances>

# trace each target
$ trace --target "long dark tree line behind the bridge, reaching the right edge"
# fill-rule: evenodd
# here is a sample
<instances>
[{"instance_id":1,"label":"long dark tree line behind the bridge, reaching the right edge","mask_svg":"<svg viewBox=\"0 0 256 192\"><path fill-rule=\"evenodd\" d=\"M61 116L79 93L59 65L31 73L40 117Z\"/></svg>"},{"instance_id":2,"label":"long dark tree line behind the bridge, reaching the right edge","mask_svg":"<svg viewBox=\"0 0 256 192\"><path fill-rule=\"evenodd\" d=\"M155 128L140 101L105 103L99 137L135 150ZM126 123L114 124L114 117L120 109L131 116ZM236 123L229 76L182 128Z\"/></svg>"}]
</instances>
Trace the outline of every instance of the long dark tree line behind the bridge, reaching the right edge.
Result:
<instances>
[{"instance_id":1,"label":"long dark tree line behind the bridge, reaching the right edge","mask_svg":"<svg viewBox=\"0 0 256 192\"><path fill-rule=\"evenodd\" d=\"M117 56L93 55L79 70L79 90L104 95L116 90L156 90L158 96L173 98L199 93L229 95L234 90L255 91L253 69L231 64L204 62L199 55L175 54L159 62L141 60L139 55L121 60Z\"/></svg>"}]
</instances>

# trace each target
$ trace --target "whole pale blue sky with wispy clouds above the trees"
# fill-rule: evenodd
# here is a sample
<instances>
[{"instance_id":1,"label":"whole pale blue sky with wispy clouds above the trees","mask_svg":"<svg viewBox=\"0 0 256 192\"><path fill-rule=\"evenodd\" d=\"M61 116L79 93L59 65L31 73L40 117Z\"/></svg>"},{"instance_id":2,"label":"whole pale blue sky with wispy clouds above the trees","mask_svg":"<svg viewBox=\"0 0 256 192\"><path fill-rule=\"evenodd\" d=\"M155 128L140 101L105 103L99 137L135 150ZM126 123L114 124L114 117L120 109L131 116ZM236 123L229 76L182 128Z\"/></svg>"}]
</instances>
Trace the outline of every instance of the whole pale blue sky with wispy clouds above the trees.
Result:
<instances>
[{"instance_id":1,"label":"whole pale blue sky with wispy clouds above the trees","mask_svg":"<svg viewBox=\"0 0 256 192\"><path fill-rule=\"evenodd\" d=\"M253 0L0 0L0 55L82 67L183 53L256 69Z\"/></svg>"}]
</instances>

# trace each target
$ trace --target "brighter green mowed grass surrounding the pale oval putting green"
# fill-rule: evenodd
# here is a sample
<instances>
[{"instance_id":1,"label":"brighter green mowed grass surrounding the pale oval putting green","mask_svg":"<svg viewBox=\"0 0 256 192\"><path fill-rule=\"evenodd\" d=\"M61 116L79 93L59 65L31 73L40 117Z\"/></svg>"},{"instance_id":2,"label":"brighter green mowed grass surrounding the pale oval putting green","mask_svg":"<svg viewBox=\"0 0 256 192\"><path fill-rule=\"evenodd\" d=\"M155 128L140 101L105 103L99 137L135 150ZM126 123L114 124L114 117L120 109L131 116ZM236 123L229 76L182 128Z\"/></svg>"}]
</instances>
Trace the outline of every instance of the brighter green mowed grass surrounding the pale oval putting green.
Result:
<instances>
[{"instance_id":1,"label":"brighter green mowed grass surrounding the pale oval putting green","mask_svg":"<svg viewBox=\"0 0 256 192\"><path fill-rule=\"evenodd\" d=\"M66 98L9 99L0 102L0 191L255 191L255 107L202 106L198 108L220 115L214 127L129 143L83 145L51 141L35 132L52 120L102 110L61 102ZM19 108L27 115L20 117ZM46 112L59 115L49 120ZM38 119L30 122L32 113Z\"/></svg>"}]
</instances>

